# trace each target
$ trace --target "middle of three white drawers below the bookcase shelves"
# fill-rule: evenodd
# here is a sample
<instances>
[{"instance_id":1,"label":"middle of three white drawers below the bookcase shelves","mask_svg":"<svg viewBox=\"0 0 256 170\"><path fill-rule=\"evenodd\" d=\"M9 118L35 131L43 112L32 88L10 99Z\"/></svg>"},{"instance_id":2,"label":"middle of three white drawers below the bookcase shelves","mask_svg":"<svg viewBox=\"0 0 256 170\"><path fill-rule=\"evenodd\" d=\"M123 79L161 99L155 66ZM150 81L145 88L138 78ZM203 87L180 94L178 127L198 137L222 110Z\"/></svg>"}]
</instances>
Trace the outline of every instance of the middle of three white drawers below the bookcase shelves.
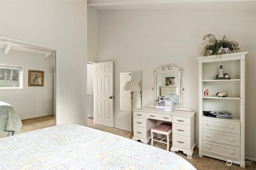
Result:
<instances>
[{"instance_id":1,"label":"middle of three white drawers below the bookcase shelves","mask_svg":"<svg viewBox=\"0 0 256 170\"><path fill-rule=\"evenodd\" d=\"M174 127L174 125L172 125ZM240 135L203 130L203 140L223 145L240 147Z\"/></svg>"}]
</instances>

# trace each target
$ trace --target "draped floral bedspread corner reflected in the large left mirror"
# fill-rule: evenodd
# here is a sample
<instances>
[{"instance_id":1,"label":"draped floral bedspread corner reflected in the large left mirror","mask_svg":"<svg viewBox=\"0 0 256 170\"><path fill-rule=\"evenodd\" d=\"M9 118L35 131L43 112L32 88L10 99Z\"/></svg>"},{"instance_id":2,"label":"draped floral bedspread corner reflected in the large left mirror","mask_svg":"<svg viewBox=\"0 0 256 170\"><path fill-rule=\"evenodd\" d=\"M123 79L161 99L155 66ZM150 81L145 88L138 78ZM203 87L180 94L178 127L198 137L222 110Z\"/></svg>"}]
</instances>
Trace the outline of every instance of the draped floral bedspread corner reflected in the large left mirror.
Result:
<instances>
[{"instance_id":1,"label":"draped floral bedspread corner reflected in the large left mirror","mask_svg":"<svg viewBox=\"0 0 256 170\"><path fill-rule=\"evenodd\" d=\"M21 127L22 122L15 109L10 104L0 102L0 131L12 131L12 135L16 135Z\"/></svg>"}]
</instances>

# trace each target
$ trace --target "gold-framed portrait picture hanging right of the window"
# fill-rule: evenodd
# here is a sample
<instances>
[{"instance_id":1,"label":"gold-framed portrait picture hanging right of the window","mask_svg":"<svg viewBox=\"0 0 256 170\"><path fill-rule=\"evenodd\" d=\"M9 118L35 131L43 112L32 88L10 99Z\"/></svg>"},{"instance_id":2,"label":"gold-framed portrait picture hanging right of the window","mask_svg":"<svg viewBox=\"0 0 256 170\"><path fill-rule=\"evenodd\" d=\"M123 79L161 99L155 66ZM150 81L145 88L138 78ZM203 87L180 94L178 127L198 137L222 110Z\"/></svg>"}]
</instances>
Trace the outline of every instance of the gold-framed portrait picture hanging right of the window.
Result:
<instances>
[{"instance_id":1,"label":"gold-framed portrait picture hanging right of the window","mask_svg":"<svg viewBox=\"0 0 256 170\"><path fill-rule=\"evenodd\" d=\"M28 86L44 86L44 72L28 70Z\"/></svg>"}]
</instances>

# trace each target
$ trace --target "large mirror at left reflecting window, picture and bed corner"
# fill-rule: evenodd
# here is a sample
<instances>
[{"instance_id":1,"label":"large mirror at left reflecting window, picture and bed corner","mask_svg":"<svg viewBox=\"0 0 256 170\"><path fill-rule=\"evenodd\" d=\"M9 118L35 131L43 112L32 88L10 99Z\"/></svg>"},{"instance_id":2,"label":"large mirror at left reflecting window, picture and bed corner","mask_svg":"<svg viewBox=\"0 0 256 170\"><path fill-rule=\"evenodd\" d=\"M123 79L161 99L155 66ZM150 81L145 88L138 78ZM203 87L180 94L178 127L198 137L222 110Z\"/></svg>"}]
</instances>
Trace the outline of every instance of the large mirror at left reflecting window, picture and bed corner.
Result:
<instances>
[{"instance_id":1,"label":"large mirror at left reflecting window, picture and bed corner","mask_svg":"<svg viewBox=\"0 0 256 170\"><path fill-rule=\"evenodd\" d=\"M56 50L0 39L0 56L0 138L56 125Z\"/></svg>"}]
</instances>

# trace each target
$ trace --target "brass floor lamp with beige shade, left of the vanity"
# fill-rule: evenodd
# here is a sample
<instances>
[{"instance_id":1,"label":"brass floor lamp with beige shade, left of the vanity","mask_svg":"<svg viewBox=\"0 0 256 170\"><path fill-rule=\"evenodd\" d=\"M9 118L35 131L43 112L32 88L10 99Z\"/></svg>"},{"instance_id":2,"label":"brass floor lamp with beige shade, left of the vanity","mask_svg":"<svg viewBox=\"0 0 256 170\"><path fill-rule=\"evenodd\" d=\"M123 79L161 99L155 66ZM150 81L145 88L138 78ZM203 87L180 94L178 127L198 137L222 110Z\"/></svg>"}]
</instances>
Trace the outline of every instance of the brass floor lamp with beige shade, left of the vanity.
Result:
<instances>
[{"instance_id":1,"label":"brass floor lamp with beige shade, left of the vanity","mask_svg":"<svg viewBox=\"0 0 256 170\"><path fill-rule=\"evenodd\" d=\"M132 107L132 99L133 99L133 91L140 91L140 87L136 81L127 81L124 85L124 90L126 91L132 91L131 92L131 116L132 116L132 131L128 137L133 137L133 107Z\"/></svg>"}]
</instances>

